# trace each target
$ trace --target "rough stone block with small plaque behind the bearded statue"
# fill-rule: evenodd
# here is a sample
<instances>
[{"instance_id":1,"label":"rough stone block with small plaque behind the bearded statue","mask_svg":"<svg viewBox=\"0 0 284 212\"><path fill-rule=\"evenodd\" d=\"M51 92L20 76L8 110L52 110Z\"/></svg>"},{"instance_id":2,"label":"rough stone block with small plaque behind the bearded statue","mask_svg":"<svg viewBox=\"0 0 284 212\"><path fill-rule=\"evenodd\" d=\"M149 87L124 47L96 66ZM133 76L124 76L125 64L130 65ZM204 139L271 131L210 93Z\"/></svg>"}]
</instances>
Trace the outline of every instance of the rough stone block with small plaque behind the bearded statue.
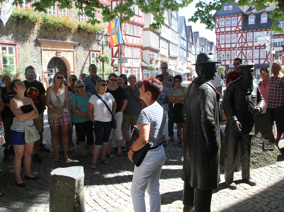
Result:
<instances>
[{"instance_id":1,"label":"rough stone block with small plaque behind the bearded statue","mask_svg":"<svg viewBox=\"0 0 284 212\"><path fill-rule=\"evenodd\" d=\"M264 140L274 140L273 132L271 129L269 114L255 115L255 135L252 136L252 150L250 156L250 168L260 168L276 164L277 161L277 148L272 150L265 150L262 143ZM227 136L224 136L221 142L220 163L224 164L225 151L227 144ZM235 171L240 168L239 154L235 160Z\"/></svg>"}]
</instances>

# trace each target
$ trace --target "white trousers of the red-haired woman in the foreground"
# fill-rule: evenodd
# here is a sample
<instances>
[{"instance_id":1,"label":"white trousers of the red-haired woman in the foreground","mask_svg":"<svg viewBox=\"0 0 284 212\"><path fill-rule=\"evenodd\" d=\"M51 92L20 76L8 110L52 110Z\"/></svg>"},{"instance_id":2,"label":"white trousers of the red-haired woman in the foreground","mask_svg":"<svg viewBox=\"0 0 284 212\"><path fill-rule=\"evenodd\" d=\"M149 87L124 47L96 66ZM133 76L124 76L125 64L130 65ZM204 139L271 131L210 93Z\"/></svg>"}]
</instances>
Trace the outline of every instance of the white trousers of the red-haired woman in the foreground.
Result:
<instances>
[{"instance_id":1,"label":"white trousers of the red-haired woman in the foreground","mask_svg":"<svg viewBox=\"0 0 284 212\"><path fill-rule=\"evenodd\" d=\"M142 164L134 168L131 196L135 212L146 212L145 190L150 197L150 212L161 211L160 175L166 160L164 147L149 150Z\"/></svg>"}]
</instances>

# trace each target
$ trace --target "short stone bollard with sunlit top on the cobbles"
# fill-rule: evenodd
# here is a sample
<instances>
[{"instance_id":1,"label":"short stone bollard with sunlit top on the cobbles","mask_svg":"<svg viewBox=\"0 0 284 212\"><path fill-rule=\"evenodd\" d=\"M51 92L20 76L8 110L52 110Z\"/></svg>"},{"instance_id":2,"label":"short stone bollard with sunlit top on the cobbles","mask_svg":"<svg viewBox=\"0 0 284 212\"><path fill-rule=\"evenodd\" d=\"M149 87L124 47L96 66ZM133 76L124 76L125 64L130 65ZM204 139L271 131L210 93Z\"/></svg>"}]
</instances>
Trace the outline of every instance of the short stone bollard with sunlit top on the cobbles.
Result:
<instances>
[{"instance_id":1,"label":"short stone bollard with sunlit top on the cobbles","mask_svg":"<svg viewBox=\"0 0 284 212\"><path fill-rule=\"evenodd\" d=\"M50 175L49 211L85 211L83 166L57 168Z\"/></svg>"}]
</instances>

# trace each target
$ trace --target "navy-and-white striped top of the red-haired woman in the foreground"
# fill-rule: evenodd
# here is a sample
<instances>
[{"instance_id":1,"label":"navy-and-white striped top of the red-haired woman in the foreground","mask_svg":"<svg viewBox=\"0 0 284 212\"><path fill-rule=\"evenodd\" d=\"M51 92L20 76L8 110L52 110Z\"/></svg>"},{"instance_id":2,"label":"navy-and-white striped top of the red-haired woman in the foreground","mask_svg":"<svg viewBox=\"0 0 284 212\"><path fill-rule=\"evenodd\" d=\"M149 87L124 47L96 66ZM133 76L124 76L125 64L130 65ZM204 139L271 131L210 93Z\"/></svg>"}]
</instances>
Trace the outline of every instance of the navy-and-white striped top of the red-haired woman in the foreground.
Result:
<instances>
[{"instance_id":1,"label":"navy-and-white striped top of the red-haired woman in the foreground","mask_svg":"<svg viewBox=\"0 0 284 212\"><path fill-rule=\"evenodd\" d=\"M151 147L157 146L162 142L163 130L166 124L166 114L160 105L152 104L141 110L137 121L139 131L140 124L150 125L149 141L152 143Z\"/></svg>"}]
</instances>

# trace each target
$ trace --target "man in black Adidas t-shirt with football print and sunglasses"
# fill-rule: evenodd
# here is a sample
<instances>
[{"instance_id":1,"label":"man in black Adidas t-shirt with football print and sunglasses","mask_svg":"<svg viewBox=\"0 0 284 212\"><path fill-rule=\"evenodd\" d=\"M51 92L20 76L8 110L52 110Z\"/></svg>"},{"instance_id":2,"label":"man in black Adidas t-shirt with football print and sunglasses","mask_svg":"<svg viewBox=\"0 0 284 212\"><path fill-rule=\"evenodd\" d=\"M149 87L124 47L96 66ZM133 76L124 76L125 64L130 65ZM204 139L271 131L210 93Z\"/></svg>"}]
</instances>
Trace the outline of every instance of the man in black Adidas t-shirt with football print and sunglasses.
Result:
<instances>
[{"instance_id":1,"label":"man in black Adidas t-shirt with football print and sunglasses","mask_svg":"<svg viewBox=\"0 0 284 212\"><path fill-rule=\"evenodd\" d=\"M43 113L45 110L45 88L41 82L35 80L35 69L32 66L28 66L25 69L26 80L23 81L26 86L25 97L30 97L38 111L38 117L34 119L34 125L39 132L40 138L34 143L34 160L41 162L38 150L49 152L50 149L46 148L42 143L42 132L43 132Z\"/></svg>"}]
</instances>

